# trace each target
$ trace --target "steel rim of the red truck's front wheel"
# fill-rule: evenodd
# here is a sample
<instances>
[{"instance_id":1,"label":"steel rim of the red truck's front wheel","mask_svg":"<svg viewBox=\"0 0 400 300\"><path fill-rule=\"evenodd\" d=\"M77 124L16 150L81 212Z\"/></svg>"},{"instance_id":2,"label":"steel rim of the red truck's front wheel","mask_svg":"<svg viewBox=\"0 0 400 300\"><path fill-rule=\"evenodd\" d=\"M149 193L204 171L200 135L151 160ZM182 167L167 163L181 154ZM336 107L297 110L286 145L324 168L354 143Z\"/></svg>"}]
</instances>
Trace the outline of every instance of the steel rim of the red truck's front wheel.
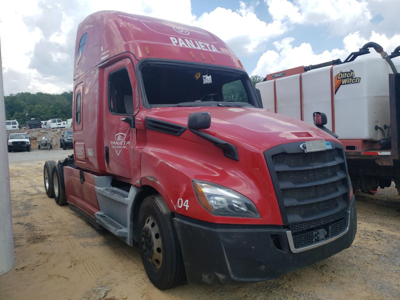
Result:
<instances>
[{"instance_id":1,"label":"steel rim of the red truck's front wheel","mask_svg":"<svg viewBox=\"0 0 400 300\"><path fill-rule=\"evenodd\" d=\"M158 224L152 216L146 217L140 238L144 256L153 268L160 269L162 265L162 242Z\"/></svg>"}]
</instances>

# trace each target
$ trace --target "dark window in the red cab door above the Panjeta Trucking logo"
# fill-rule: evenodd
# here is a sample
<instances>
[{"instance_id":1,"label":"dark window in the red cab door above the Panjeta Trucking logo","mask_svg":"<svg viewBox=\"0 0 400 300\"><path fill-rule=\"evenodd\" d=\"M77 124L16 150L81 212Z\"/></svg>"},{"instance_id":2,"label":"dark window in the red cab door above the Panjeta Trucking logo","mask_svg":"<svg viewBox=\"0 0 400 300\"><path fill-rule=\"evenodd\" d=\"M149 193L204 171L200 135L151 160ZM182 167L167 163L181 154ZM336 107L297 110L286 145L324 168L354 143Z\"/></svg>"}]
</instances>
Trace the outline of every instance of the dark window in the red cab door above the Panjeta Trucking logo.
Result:
<instances>
[{"instance_id":1,"label":"dark window in the red cab door above the Panjeta Trucking logo","mask_svg":"<svg viewBox=\"0 0 400 300\"><path fill-rule=\"evenodd\" d=\"M132 85L126 68L108 77L108 109L112 114L133 113Z\"/></svg>"}]
</instances>

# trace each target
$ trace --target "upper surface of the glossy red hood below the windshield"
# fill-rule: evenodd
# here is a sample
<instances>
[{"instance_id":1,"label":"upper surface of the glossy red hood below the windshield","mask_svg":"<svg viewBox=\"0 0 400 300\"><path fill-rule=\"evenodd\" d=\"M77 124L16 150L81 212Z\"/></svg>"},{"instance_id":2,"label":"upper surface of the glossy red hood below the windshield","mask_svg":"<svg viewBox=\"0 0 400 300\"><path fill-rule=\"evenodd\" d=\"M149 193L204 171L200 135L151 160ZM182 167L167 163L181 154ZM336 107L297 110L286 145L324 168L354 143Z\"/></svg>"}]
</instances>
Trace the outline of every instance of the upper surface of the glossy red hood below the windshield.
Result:
<instances>
[{"instance_id":1,"label":"upper surface of the glossy red hood below the windshield","mask_svg":"<svg viewBox=\"0 0 400 300\"><path fill-rule=\"evenodd\" d=\"M332 139L305 122L262 108L162 107L152 108L147 116L187 126L188 116L194 112L211 114L211 127L204 132L222 139L248 140L263 149L299 140Z\"/></svg>"}]
</instances>

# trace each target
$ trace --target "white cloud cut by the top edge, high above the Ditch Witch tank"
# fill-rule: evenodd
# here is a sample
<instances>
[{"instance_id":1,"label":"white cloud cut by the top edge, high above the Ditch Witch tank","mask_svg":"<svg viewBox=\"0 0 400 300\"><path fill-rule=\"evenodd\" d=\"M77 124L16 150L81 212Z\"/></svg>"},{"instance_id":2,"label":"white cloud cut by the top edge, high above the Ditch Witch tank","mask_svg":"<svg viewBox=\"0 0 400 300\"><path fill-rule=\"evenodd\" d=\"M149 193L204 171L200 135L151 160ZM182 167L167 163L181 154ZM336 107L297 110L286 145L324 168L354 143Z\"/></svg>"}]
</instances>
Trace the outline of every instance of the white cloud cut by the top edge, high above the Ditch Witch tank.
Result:
<instances>
[{"instance_id":1,"label":"white cloud cut by the top edge, high above the Ditch Witch tank","mask_svg":"<svg viewBox=\"0 0 400 300\"><path fill-rule=\"evenodd\" d=\"M368 24L372 14L364 0L264 0L274 20L292 24L327 24L332 34Z\"/></svg>"}]
</instances>

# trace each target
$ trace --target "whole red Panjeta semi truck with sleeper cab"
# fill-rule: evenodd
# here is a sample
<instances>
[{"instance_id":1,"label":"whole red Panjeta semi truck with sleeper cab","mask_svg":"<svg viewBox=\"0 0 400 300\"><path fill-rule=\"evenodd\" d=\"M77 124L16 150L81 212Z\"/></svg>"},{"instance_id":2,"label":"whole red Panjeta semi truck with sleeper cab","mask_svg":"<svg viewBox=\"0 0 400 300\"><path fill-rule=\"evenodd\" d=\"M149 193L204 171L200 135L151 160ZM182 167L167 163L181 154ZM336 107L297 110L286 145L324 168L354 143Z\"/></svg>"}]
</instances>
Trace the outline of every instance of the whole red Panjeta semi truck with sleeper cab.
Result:
<instances>
[{"instance_id":1,"label":"whole red Panjeta semi truck with sleeper cab","mask_svg":"<svg viewBox=\"0 0 400 300\"><path fill-rule=\"evenodd\" d=\"M74 154L45 163L46 193L138 242L156 287L268 280L352 244L342 144L263 109L218 37L102 11L75 51Z\"/></svg>"}]
</instances>

